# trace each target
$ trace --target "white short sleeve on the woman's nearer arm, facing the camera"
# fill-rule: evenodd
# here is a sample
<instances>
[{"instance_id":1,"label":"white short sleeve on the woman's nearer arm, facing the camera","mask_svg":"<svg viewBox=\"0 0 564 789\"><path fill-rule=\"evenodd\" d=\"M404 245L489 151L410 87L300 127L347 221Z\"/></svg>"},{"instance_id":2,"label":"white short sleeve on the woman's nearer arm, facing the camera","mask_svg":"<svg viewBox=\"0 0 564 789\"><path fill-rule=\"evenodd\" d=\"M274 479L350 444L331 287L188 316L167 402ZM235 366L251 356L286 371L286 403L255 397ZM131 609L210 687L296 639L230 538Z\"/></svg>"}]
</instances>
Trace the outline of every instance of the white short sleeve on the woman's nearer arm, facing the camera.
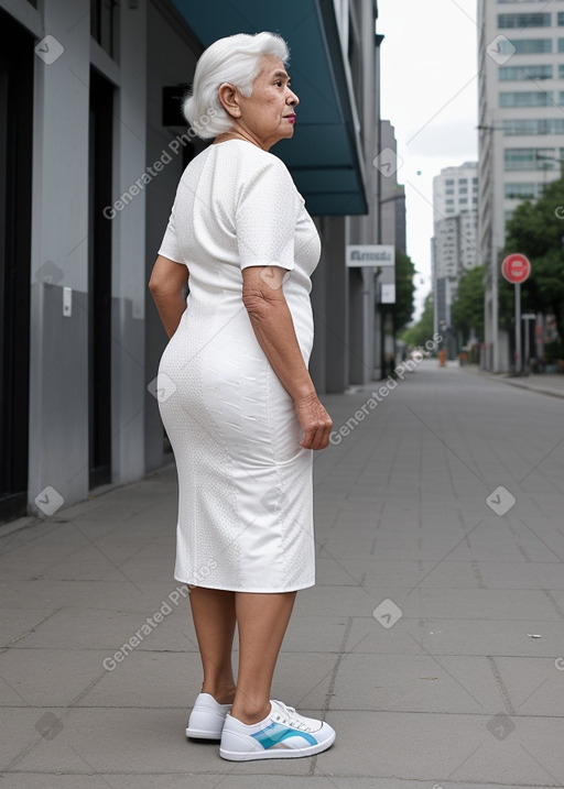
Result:
<instances>
[{"instance_id":1,"label":"white short sleeve on the woman's nearer arm, facing the camera","mask_svg":"<svg viewBox=\"0 0 564 789\"><path fill-rule=\"evenodd\" d=\"M245 173L235 215L241 270L252 265L294 267L299 208L292 176L275 156L253 173Z\"/></svg>"}]
</instances>

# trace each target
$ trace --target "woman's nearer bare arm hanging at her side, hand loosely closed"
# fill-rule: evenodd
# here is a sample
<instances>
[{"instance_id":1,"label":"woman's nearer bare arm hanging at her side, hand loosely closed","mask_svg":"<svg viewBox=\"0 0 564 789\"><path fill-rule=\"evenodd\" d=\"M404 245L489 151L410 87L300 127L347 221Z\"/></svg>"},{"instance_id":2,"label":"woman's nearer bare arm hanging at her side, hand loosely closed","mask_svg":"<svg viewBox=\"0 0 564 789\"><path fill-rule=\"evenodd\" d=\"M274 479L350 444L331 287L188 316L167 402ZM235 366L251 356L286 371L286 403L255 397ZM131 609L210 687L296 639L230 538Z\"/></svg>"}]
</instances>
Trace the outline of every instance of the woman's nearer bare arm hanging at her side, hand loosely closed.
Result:
<instances>
[{"instance_id":1,"label":"woman's nearer bare arm hanging at her side, hand loosely closed","mask_svg":"<svg viewBox=\"0 0 564 789\"><path fill-rule=\"evenodd\" d=\"M294 401L304 430L300 446L325 449L333 421L321 404L297 343L292 315L284 297L281 266L242 270L242 300L257 340L282 386Z\"/></svg>"}]
</instances>

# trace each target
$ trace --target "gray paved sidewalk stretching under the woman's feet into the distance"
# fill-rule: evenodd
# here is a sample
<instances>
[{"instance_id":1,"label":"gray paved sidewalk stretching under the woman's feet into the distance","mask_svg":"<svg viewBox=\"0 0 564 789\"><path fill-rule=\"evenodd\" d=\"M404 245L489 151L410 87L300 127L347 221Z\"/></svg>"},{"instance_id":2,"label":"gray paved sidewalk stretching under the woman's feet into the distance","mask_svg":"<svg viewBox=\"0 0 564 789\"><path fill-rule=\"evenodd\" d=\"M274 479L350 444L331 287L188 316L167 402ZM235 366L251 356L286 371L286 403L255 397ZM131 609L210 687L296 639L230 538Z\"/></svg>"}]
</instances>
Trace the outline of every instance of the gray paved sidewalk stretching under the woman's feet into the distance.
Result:
<instances>
[{"instance_id":1,"label":"gray paved sidewalk stretching under the woman's feet into the distance","mask_svg":"<svg viewBox=\"0 0 564 789\"><path fill-rule=\"evenodd\" d=\"M564 404L434 360L380 386L324 397L317 584L274 678L335 745L236 764L186 741L170 467L0 530L2 786L564 786Z\"/></svg>"}]
</instances>

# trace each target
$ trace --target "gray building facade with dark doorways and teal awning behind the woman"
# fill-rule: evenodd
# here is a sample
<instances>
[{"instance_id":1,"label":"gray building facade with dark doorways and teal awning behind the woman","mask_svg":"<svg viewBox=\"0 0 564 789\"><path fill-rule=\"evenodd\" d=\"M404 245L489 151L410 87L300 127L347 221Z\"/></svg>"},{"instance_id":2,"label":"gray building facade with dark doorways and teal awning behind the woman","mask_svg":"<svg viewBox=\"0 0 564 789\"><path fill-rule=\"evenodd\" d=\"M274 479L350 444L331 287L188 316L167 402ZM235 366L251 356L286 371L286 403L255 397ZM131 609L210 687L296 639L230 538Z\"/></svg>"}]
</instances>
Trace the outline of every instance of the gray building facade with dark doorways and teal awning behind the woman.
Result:
<instances>
[{"instance_id":1,"label":"gray building facade with dark doorways and teal awning behind the woman","mask_svg":"<svg viewBox=\"0 0 564 789\"><path fill-rule=\"evenodd\" d=\"M181 174L203 150L180 99L203 50L276 30L301 98L289 166L318 227L317 388L373 379L377 4L360 0L0 0L0 519L53 516L171 461L148 282ZM252 26L249 20L252 20ZM296 25L295 21L301 20Z\"/></svg>"}]
</instances>

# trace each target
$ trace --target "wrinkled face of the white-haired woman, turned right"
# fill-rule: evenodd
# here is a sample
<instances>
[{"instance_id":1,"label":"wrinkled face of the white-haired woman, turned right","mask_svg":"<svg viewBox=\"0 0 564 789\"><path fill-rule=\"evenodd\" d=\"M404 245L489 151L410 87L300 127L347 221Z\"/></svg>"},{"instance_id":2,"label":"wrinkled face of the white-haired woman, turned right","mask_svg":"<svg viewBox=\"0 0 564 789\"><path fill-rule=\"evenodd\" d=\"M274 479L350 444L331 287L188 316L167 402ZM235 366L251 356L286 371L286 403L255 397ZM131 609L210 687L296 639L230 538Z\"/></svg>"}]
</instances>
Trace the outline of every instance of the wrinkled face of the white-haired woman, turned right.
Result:
<instances>
[{"instance_id":1,"label":"wrinkled face of the white-haired woman, turned right","mask_svg":"<svg viewBox=\"0 0 564 789\"><path fill-rule=\"evenodd\" d=\"M274 143L294 133L295 107L300 102L290 88L284 64L275 55L263 55L261 70L247 98L237 91L240 118L234 128L251 134L260 147L268 151Z\"/></svg>"}]
</instances>

